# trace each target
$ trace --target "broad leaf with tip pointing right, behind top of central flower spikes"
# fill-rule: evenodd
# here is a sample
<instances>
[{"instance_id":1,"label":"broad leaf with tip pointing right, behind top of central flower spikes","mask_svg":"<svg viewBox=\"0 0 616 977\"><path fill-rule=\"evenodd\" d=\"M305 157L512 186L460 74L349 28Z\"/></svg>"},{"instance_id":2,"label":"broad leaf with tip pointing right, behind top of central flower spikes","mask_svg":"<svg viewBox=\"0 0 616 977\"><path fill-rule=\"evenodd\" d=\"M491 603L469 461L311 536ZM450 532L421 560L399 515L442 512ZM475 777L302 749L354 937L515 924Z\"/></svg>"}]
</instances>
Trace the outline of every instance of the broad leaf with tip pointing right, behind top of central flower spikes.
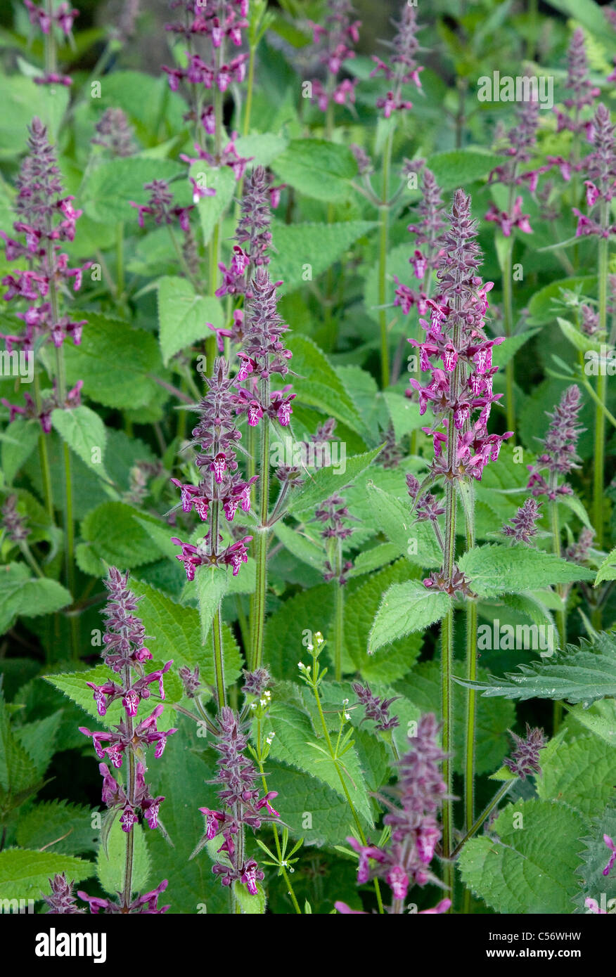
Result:
<instances>
[{"instance_id":1,"label":"broad leaf with tip pointing right, behind top of central flower spikes","mask_svg":"<svg viewBox=\"0 0 616 977\"><path fill-rule=\"evenodd\" d=\"M343 224L273 224L269 268L273 281L283 279L279 294L292 292L305 281L323 275L359 237L370 234L374 221ZM298 371L300 372L300 371Z\"/></svg>"}]
</instances>

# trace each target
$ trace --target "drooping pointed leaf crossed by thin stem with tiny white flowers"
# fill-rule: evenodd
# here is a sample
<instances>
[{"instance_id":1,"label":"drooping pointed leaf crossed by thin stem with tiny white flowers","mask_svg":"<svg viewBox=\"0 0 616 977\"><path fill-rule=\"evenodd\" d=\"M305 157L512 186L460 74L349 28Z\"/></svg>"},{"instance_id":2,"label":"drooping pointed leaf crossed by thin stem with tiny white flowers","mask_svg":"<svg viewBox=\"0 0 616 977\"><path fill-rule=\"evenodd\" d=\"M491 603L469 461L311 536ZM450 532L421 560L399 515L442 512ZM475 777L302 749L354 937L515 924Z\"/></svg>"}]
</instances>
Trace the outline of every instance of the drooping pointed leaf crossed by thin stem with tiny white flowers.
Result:
<instances>
[{"instance_id":1,"label":"drooping pointed leaf crossed by thin stem with tiny white flowers","mask_svg":"<svg viewBox=\"0 0 616 977\"><path fill-rule=\"evenodd\" d=\"M312 723L305 712L294 705L274 702L268 714L268 724L276 733L272 743L270 756L304 773L310 774L316 780L327 784L340 797L344 797L344 790L329 756L326 757L312 743L319 743L315 737ZM321 738L321 743L323 738ZM341 760L346 768L345 783L351 800L362 821L372 827L370 798L360 767L357 752L353 746L344 754ZM350 812L349 812L350 813Z\"/></svg>"}]
</instances>

